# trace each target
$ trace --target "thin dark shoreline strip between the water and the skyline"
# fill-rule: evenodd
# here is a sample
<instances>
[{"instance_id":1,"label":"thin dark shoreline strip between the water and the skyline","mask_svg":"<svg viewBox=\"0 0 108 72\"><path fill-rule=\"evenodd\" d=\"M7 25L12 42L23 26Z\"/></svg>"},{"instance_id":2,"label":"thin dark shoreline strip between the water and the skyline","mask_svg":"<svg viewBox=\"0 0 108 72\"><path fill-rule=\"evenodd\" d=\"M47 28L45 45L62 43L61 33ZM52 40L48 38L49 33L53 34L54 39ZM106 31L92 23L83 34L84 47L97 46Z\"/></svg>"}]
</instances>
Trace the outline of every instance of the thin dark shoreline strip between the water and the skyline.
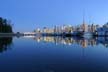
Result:
<instances>
[{"instance_id":1,"label":"thin dark shoreline strip between the water and the skyline","mask_svg":"<svg viewBox=\"0 0 108 72\"><path fill-rule=\"evenodd\" d=\"M0 33L0 37L4 36L4 37L8 37L8 36L61 36L61 37L83 37L83 35L73 35L73 34L23 34L23 33ZM89 36L89 35L88 35ZM108 35L92 35L92 37L108 37Z\"/></svg>"}]
</instances>

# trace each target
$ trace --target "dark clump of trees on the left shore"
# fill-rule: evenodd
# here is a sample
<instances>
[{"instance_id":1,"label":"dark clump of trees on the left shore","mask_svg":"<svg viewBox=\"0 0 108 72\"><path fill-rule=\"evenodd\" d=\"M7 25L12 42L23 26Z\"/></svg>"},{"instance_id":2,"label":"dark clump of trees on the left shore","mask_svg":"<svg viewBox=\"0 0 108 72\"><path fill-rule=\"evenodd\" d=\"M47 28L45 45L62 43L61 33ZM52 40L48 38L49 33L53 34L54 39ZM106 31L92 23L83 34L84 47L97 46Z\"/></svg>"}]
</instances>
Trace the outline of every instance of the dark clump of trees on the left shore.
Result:
<instances>
[{"instance_id":1,"label":"dark clump of trees on the left shore","mask_svg":"<svg viewBox=\"0 0 108 72\"><path fill-rule=\"evenodd\" d=\"M12 33L12 24L9 20L0 17L0 33Z\"/></svg>"}]
</instances>

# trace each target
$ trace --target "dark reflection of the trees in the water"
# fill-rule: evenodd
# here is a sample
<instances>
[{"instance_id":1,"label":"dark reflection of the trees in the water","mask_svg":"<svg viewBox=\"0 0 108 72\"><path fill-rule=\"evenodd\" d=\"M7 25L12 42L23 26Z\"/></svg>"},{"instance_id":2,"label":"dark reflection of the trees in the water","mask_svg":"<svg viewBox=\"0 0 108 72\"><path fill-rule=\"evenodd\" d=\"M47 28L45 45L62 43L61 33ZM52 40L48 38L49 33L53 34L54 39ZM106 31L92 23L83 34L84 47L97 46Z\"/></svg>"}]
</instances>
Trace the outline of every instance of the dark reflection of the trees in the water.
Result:
<instances>
[{"instance_id":1,"label":"dark reflection of the trees in the water","mask_svg":"<svg viewBox=\"0 0 108 72\"><path fill-rule=\"evenodd\" d=\"M0 37L0 53L10 48L12 40L12 37Z\"/></svg>"}]
</instances>

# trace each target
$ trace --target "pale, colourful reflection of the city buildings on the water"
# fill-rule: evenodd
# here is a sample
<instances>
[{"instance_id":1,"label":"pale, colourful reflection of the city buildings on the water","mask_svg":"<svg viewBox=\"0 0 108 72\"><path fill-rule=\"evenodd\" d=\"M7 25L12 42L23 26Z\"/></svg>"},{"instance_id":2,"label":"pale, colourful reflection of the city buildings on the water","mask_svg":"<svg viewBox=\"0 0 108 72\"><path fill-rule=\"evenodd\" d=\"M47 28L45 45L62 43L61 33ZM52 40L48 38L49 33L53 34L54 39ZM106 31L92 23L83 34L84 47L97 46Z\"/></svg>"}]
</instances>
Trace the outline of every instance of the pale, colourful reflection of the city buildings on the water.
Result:
<instances>
[{"instance_id":1,"label":"pale, colourful reflection of the city buildings on the water","mask_svg":"<svg viewBox=\"0 0 108 72\"><path fill-rule=\"evenodd\" d=\"M83 48L87 48L88 46L97 46L99 44L108 47L108 37L96 37L90 39L80 37L34 37L33 39L37 42L52 42L55 44L65 45L77 44Z\"/></svg>"}]
</instances>

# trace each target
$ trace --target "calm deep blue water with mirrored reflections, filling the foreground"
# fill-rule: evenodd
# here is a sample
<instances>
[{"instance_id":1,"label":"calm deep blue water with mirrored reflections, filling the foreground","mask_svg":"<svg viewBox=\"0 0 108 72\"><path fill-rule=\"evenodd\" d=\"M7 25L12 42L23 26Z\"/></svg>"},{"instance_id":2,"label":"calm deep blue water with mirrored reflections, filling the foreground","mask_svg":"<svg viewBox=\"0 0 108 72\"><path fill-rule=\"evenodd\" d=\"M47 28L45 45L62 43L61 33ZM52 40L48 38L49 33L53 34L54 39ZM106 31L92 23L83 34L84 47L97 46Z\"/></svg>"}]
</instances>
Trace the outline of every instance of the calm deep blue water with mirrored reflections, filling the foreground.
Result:
<instances>
[{"instance_id":1,"label":"calm deep blue water with mirrored reflections, filling the foreground","mask_svg":"<svg viewBox=\"0 0 108 72\"><path fill-rule=\"evenodd\" d=\"M0 37L0 72L108 72L108 39Z\"/></svg>"}]
</instances>

